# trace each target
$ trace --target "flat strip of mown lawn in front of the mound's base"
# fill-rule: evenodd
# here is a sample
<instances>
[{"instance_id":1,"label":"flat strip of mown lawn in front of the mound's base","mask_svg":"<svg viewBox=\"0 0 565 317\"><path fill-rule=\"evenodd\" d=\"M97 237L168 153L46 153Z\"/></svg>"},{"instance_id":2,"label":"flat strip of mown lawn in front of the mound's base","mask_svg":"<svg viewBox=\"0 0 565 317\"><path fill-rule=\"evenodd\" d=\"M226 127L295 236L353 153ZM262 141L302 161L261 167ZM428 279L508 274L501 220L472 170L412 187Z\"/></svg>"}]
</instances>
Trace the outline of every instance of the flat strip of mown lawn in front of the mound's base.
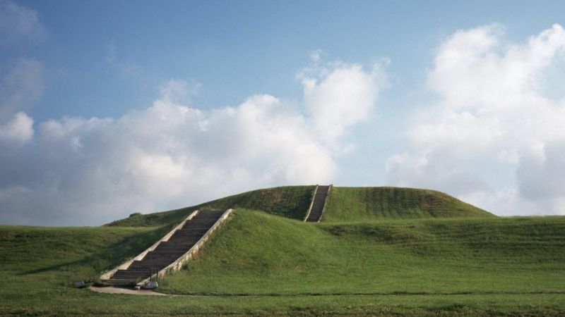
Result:
<instances>
[{"instance_id":1,"label":"flat strip of mown lawn in front of the mound's base","mask_svg":"<svg viewBox=\"0 0 565 317\"><path fill-rule=\"evenodd\" d=\"M565 313L562 294L150 297L61 287L26 292L17 299L4 294L6 299L0 304L0 313L36 316L563 316Z\"/></svg>"}]
</instances>

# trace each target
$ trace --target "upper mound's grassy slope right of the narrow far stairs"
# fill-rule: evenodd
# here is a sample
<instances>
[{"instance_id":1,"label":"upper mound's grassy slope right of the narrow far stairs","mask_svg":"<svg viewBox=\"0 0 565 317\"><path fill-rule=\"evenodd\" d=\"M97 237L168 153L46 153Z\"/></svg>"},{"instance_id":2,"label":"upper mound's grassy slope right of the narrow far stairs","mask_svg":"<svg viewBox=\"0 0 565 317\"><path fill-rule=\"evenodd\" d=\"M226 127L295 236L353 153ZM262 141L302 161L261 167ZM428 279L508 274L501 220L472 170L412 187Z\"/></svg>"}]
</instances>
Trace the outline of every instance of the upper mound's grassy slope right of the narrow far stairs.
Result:
<instances>
[{"instance_id":1,"label":"upper mound's grassy slope right of the narrow far stairs","mask_svg":"<svg viewBox=\"0 0 565 317\"><path fill-rule=\"evenodd\" d=\"M323 221L383 218L494 217L459 199L429 189L400 187L333 187Z\"/></svg>"}]
</instances>

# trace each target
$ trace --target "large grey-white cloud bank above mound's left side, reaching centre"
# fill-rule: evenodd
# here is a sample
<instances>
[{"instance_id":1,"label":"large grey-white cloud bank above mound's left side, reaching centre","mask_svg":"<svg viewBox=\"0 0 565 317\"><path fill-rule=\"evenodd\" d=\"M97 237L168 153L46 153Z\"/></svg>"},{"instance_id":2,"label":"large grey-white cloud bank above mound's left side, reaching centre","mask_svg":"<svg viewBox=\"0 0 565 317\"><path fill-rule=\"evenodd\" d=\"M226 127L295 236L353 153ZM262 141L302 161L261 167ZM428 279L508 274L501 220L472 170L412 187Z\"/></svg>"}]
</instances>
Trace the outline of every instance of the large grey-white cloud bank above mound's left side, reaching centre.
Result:
<instances>
[{"instance_id":1,"label":"large grey-white cloud bank above mound's left side, reaching centre","mask_svg":"<svg viewBox=\"0 0 565 317\"><path fill-rule=\"evenodd\" d=\"M143 111L38 123L28 147L0 156L0 222L95 225L248 189L330 182L338 173L338 139L362 119L349 112L369 113L379 87L360 66L325 70L305 88L311 115L264 94L199 110L186 104L198 85L171 80ZM359 91L370 104L351 95ZM322 106L331 101L324 93L339 102ZM326 111L348 118L332 144L318 130Z\"/></svg>"}]
</instances>

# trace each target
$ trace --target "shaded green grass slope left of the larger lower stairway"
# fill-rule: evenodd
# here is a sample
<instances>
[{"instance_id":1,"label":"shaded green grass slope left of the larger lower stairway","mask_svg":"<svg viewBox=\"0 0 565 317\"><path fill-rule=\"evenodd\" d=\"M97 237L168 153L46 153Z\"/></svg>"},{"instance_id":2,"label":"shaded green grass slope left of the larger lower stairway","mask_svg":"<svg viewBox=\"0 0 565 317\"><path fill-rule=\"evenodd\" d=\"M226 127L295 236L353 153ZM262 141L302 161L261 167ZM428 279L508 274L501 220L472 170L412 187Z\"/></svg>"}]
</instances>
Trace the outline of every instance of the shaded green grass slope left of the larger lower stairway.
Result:
<instances>
[{"instance_id":1,"label":"shaded green grass slope left of the larger lower stairway","mask_svg":"<svg viewBox=\"0 0 565 317\"><path fill-rule=\"evenodd\" d=\"M31 276L58 271L69 280L94 279L147 249L169 230L0 226L0 268L27 270Z\"/></svg>"}]
</instances>

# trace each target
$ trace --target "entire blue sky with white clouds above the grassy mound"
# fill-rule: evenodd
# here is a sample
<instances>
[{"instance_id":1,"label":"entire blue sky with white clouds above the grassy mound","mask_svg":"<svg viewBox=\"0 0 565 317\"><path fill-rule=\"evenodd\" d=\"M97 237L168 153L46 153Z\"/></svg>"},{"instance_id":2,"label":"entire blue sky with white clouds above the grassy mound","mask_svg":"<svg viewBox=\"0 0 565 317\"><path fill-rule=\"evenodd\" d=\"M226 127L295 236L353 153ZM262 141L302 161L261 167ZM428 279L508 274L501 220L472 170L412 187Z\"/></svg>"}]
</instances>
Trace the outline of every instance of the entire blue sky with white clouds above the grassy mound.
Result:
<instances>
[{"instance_id":1,"label":"entire blue sky with white clouds above the grassy mound","mask_svg":"<svg viewBox=\"0 0 565 317\"><path fill-rule=\"evenodd\" d=\"M564 214L563 13L0 1L0 222L97 225L317 182Z\"/></svg>"}]
</instances>

